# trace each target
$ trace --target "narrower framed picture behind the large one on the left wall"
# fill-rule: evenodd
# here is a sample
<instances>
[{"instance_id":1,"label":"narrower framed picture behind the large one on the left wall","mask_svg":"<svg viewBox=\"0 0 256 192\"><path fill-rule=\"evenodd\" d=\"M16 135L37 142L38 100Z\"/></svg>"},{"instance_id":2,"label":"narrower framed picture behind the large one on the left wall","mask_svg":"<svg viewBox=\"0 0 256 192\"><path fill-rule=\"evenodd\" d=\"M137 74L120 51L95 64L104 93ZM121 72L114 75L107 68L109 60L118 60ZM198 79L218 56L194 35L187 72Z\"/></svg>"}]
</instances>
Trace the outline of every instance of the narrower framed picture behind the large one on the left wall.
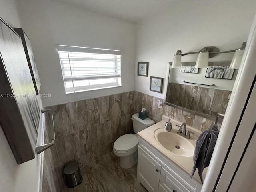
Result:
<instances>
[{"instance_id":1,"label":"narrower framed picture behind the large one on the left wall","mask_svg":"<svg viewBox=\"0 0 256 192\"><path fill-rule=\"evenodd\" d=\"M34 87L36 90L36 94L39 94L39 90L41 87L41 82L39 79L39 75L38 75L38 71L36 68L36 61L34 59L34 54L32 51L32 46L31 46L31 42L28 38L28 36L26 35L26 33L22 30L22 28L14 28L14 30L20 35L21 40L22 40L22 44L23 44L23 48L26 54L26 58L28 61L28 67L32 76L32 80L34 83Z\"/></svg>"}]
</instances>

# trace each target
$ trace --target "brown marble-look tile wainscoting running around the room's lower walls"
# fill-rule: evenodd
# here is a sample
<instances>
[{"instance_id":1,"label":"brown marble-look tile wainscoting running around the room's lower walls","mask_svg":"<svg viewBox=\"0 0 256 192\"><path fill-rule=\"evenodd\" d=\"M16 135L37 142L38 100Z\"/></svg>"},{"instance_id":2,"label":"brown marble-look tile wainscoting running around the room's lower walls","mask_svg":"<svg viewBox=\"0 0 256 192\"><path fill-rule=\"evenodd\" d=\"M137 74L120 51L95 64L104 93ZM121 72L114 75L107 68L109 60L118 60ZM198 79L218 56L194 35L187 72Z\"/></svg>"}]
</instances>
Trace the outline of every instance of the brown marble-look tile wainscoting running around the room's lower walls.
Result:
<instances>
[{"instance_id":1,"label":"brown marble-look tile wainscoting running around the room's lower walls","mask_svg":"<svg viewBox=\"0 0 256 192\"><path fill-rule=\"evenodd\" d=\"M62 169L67 162L79 162L81 172L101 164L102 159L110 156L114 141L133 132L132 115L143 107L148 111L148 118L155 122L166 115L201 131L212 122L165 104L160 109L158 100L163 102L163 99L130 91L78 101L77 107L75 102L47 107L53 110L56 144L44 152L45 191L70 190L63 186ZM57 186L51 187L53 185Z\"/></svg>"}]
</instances>

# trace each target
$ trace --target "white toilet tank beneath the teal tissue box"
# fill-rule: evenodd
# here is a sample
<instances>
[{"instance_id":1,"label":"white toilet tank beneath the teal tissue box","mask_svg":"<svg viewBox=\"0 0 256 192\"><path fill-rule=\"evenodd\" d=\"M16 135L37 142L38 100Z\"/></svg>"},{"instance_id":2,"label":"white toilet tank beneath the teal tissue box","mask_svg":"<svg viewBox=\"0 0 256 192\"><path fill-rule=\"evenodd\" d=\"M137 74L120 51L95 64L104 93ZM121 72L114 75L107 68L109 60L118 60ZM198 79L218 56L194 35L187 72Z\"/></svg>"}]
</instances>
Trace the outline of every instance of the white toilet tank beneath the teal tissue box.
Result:
<instances>
[{"instance_id":1,"label":"white toilet tank beneath the teal tissue box","mask_svg":"<svg viewBox=\"0 0 256 192\"><path fill-rule=\"evenodd\" d=\"M132 124L133 124L133 130L137 134L138 132L148 128L149 126L154 125L155 122L150 118L146 118L142 120L139 118L139 114L136 113L132 116Z\"/></svg>"}]
</instances>

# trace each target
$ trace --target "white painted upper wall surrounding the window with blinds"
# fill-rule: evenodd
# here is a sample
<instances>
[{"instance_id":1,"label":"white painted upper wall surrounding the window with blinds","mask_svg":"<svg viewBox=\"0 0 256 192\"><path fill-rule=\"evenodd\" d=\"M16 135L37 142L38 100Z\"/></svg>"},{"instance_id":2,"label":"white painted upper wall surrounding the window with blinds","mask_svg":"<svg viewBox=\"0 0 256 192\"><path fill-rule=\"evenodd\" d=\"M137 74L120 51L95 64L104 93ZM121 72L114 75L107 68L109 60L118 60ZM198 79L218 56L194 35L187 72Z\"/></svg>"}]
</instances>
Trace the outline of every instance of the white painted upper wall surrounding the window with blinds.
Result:
<instances>
[{"instance_id":1,"label":"white painted upper wall surrounding the window with blinds","mask_svg":"<svg viewBox=\"0 0 256 192\"><path fill-rule=\"evenodd\" d=\"M122 51L122 87L80 92L77 100L134 90L135 26L60 1L18 1L24 31L31 40L44 106L72 102L65 94L57 44Z\"/></svg>"}]
</instances>

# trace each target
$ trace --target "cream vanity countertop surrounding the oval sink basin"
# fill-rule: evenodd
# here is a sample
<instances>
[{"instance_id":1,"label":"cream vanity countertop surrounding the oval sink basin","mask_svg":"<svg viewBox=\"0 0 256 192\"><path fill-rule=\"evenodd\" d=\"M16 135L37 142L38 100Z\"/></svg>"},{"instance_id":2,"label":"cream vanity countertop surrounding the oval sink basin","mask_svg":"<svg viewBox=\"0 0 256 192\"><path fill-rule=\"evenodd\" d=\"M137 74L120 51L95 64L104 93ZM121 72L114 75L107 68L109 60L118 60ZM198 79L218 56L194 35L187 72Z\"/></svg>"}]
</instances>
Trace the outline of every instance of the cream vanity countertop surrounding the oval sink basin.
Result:
<instances>
[{"instance_id":1,"label":"cream vanity countertop surrounding the oval sink basin","mask_svg":"<svg viewBox=\"0 0 256 192\"><path fill-rule=\"evenodd\" d=\"M166 158L168 158L169 160L174 162L178 167L180 167L181 170L183 170L184 172L186 172L188 174L188 177L190 177L190 173L192 172L192 168L194 166L193 156L192 157L183 157L183 156L176 155L176 154L170 152L169 150L167 150L166 148L164 148L162 145L160 145L154 137L155 130L157 130L158 128L164 128L168 119L169 118L167 116L163 116L162 121L138 132L138 136L140 136L142 139L146 140L149 144L151 144L154 148L156 148ZM171 119L171 123L172 123L171 132L177 133L178 126L176 126L176 124L180 125L181 123L178 121L172 120L172 119ZM195 133L194 135L190 134L191 142L195 143L196 139L200 135L201 131L196 130L190 126L187 126L186 131L188 131L188 130L191 130L192 132ZM208 170L208 168L204 168L203 179L205 178L207 170ZM201 180L198 175L197 169L192 178L194 178L198 183L201 184Z\"/></svg>"}]
</instances>

